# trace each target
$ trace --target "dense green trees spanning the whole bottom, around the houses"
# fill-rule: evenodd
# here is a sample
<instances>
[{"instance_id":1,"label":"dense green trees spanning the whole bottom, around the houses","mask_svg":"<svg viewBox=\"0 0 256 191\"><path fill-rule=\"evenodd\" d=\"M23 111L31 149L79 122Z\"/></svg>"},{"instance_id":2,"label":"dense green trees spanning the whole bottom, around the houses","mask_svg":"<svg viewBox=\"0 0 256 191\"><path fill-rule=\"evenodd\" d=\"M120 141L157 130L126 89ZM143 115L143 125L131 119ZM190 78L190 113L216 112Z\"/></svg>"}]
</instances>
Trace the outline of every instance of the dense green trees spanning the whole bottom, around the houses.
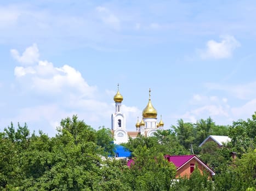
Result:
<instances>
[{"instance_id":1,"label":"dense green trees spanning the whole bottom, around the houses","mask_svg":"<svg viewBox=\"0 0 256 191\"><path fill-rule=\"evenodd\" d=\"M138 136L123 144L135 160L130 168L115 160L110 129L98 130L77 116L61 121L58 134L30 134L25 124L13 123L0 133L0 190L255 190L256 113L247 121L218 126L211 118ZM208 142L208 135L229 135L224 147ZM214 181L195 170L190 178L174 181L175 166L164 154L194 152L215 172ZM231 158L231 152L237 158Z\"/></svg>"}]
</instances>

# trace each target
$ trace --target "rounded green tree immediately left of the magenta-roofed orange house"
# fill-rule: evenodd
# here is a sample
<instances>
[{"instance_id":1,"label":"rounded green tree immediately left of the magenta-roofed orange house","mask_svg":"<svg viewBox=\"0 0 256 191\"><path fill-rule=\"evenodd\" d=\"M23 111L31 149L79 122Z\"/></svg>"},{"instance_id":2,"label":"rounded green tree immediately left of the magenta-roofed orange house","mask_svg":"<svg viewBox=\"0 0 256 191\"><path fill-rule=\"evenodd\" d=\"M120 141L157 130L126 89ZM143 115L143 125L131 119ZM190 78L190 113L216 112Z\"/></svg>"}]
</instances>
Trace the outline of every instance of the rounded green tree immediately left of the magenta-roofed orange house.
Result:
<instances>
[{"instance_id":1,"label":"rounded green tree immediately left of the magenta-roofed orange house","mask_svg":"<svg viewBox=\"0 0 256 191\"><path fill-rule=\"evenodd\" d=\"M138 146L134 164L126 170L126 181L133 190L169 190L176 168L156 148Z\"/></svg>"}]
</instances>

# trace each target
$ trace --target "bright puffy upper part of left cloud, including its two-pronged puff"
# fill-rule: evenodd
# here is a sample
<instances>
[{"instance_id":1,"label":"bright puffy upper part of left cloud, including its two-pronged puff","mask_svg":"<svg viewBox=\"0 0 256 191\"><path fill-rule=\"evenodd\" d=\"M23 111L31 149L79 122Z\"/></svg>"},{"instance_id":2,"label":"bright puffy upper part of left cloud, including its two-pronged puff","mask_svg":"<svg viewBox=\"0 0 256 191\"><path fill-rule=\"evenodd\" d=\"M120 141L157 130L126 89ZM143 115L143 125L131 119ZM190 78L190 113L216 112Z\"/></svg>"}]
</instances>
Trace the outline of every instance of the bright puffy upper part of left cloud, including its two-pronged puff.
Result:
<instances>
[{"instance_id":1,"label":"bright puffy upper part of left cloud, including its two-pronged puff","mask_svg":"<svg viewBox=\"0 0 256 191\"><path fill-rule=\"evenodd\" d=\"M22 63L38 62L31 66L15 67L14 69L14 75L18 80L24 82L24 85L29 87L29 89L44 94L70 91L79 93L80 97L93 97L96 87L89 86L81 73L75 68L69 65L57 68L51 62L40 61L36 44L28 47L21 57L16 55L17 52L15 52L16 50L12 50L14 58Z\"/></svg>"}]
</instances>

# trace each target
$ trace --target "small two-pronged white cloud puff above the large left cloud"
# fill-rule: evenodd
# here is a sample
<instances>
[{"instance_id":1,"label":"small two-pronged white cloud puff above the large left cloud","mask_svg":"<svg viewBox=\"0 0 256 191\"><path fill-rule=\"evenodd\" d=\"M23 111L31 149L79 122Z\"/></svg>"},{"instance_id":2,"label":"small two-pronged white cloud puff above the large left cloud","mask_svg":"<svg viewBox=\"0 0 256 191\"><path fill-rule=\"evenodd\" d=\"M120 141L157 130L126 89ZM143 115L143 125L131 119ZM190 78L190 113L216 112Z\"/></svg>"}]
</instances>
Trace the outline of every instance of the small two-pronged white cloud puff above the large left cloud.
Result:
<instances>
[{"instance_id":1,"label":"small two-pronged white cloud puff above the large left cloud","mask_svg":"<svg viewBox=\"0 0 256 191\"><path fill-rule=\"evenodd\" d=\"M21 56L18 50L16 49L10 50L10 53L16 59L16 61L24 65L32 65L38 62L39 60L39 51L37 48L37 44L33 44L32 46L27 47Z\"/></svg>"}]
</instances>

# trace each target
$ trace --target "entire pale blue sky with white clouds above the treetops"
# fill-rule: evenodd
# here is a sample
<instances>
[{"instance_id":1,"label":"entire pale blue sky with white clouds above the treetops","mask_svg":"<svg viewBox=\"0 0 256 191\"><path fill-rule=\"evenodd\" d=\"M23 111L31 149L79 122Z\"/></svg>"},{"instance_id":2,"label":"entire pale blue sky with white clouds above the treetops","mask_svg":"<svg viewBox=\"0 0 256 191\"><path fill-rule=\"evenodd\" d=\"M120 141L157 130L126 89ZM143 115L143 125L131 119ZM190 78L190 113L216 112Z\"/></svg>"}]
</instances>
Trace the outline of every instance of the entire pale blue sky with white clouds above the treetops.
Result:
<instances>
[{"instance_id":1,"label":"entire pale blue sky with white clouds above the treetops","mask_svg":"<svg viewBox=\"0 0 256 191\"><path fill-rule=\"evenodd\" d=\"M0 0L0 132L56 134L72 115L127 130L149 100L164 128L256 111L255 1Z\"/></svg>"}]
</instances>

